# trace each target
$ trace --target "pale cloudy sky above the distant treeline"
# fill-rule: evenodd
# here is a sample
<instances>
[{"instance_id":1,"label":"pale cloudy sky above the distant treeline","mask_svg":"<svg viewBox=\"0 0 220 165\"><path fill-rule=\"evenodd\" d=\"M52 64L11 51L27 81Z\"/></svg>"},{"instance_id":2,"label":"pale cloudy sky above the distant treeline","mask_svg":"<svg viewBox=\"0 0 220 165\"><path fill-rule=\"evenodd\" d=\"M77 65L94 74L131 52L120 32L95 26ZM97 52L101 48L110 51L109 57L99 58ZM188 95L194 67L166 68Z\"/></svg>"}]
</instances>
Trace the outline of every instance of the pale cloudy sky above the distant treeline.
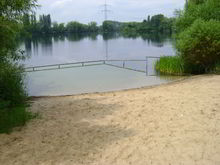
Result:
<instances>
[{"instance_id":1,"label":"pale cloudy sky above the distant treeline","mask_svg":"<svg viewBox=\"0 0 220 165\"><path fill-rule=\"evenodd\" d=\"M182 9L185 0L106 0L109 4L109 20L143 21L147 15L173 16L175 9ZM38 0L41 7L37 14L51 14L52 21L88 23L104 20L102 10L105 0Z\"/></svg>"}]
</instances>

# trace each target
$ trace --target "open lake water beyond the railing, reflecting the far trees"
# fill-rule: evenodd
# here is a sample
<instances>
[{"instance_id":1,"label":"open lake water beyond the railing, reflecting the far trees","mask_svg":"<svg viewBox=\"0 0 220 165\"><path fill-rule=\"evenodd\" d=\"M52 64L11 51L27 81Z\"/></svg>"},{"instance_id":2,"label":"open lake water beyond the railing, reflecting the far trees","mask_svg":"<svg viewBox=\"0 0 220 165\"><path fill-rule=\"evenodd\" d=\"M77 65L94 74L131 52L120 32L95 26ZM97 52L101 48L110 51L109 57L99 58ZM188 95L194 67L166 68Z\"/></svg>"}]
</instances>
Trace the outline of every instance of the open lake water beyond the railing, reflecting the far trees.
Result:
<instances>
[{"instance_id":1,"label":"open lake water beyond the railing, reflecting the far trees","mask_svg":"<svg viewBox=\"0 0 220 165\"><path fill-rule=\"evenodd\" d=\"M44 35L25 39L26 66L108 59L145 59L146 56L174 55L170 35L124 35L79 33Z\"/></svg>"}]
</instances>

